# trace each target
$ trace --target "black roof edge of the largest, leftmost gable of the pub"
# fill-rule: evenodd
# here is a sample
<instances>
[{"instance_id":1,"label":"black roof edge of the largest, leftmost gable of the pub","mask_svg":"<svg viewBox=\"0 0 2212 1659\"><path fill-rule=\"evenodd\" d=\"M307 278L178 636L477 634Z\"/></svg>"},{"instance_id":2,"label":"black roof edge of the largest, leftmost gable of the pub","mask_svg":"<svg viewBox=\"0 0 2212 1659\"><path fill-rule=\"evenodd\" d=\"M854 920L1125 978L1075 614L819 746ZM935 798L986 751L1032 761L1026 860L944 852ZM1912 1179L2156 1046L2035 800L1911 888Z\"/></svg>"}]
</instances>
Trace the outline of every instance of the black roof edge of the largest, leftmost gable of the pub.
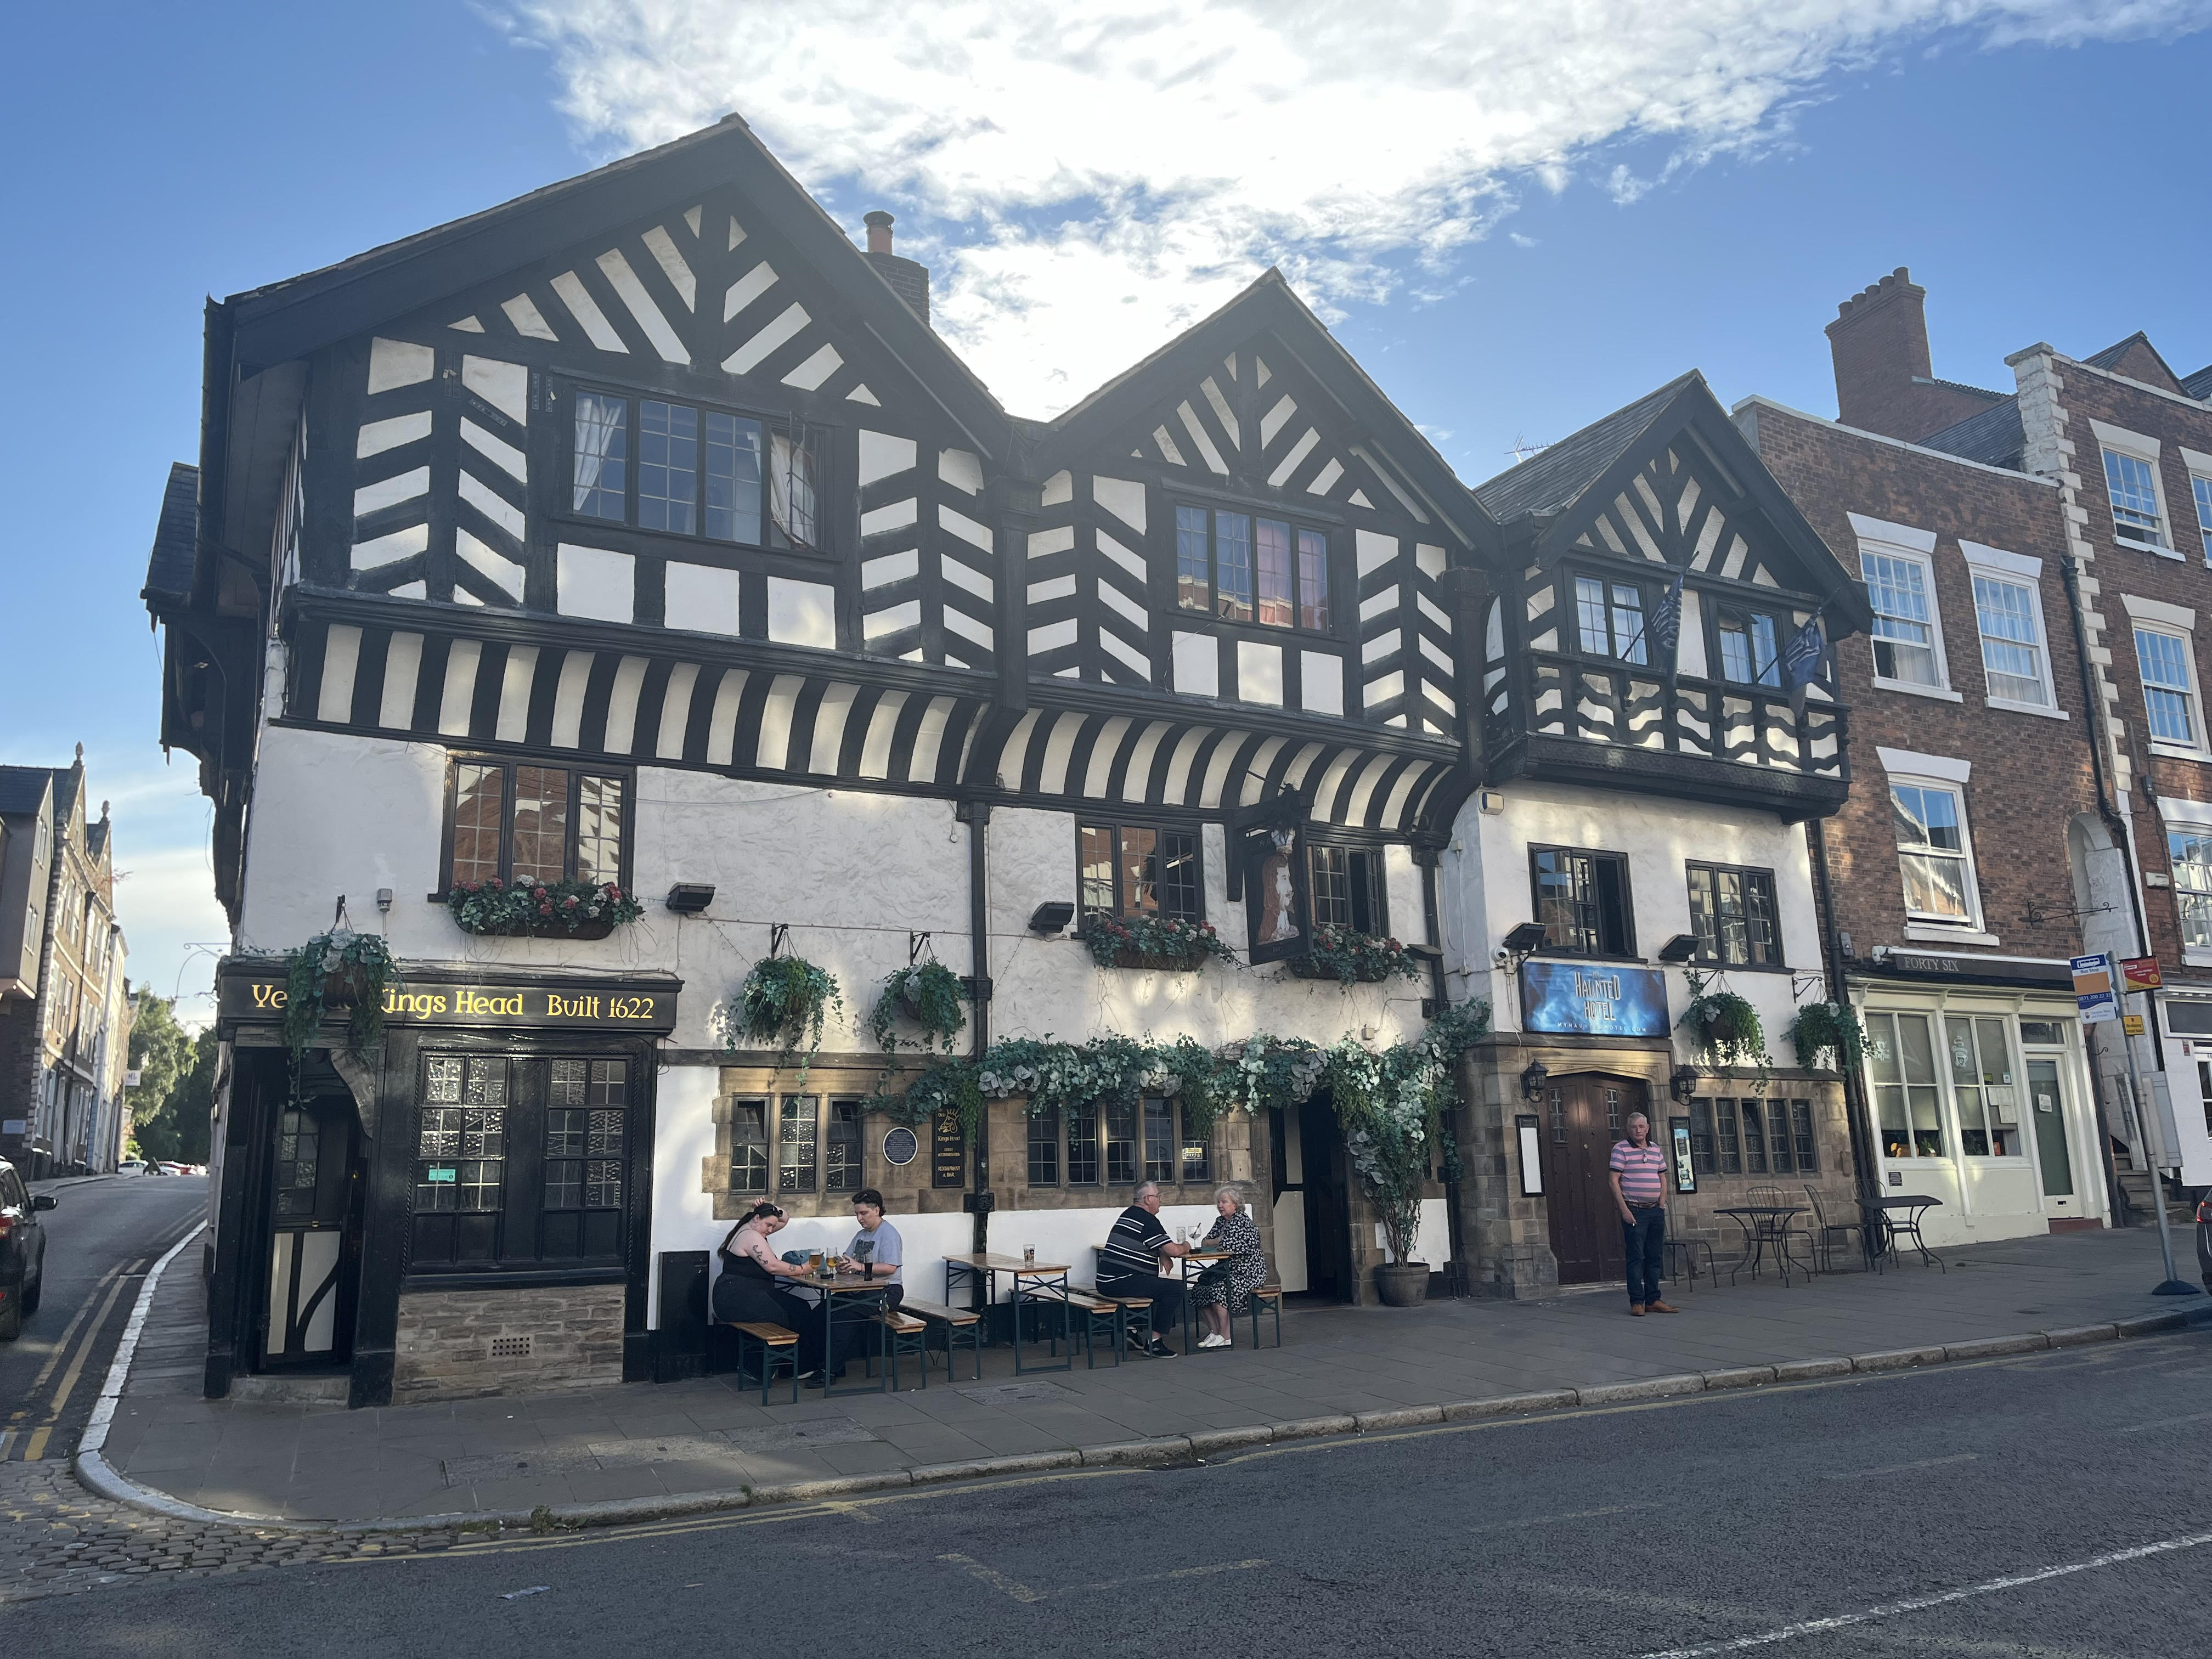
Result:
<instances>
[{"instance_id":1,"label":"black roof edge of the largest, leftmost gable of the pub","mask_svg":"<svg viewBox=\"0 0 2212 1659\"><path fill-rule=\"evenodd\" d=\"M1004 442L1006 411L991 389L891 292L852 237L739 115L336 265L232 294L221 305L234 330L232 349L248 372L305 356L551 257L602 228L635 223L655 204L723 184L745 195L978 440Z\"/></svg>"}]
</instances>

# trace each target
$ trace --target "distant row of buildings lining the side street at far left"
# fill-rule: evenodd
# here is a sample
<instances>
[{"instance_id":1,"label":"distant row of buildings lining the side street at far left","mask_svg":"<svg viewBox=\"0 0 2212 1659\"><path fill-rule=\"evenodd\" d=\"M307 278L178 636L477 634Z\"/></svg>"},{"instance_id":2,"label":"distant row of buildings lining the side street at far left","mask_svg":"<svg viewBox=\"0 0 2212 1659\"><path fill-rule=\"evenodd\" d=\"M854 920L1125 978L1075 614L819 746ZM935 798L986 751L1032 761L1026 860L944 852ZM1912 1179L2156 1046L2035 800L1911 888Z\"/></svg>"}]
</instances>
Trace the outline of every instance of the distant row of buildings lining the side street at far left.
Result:
<instances>
[{"instance_id":1,"label":"distant row of buildings lining the side street at far left","mask_svg":"<svg viewBox=\"0 0 2212 1659\"><path fill-rule=\"evenodd\" d=\"M0 768L0 1157L113 1170L131 1044L108 807L66 768Z\"/></svg>"}]
</instances>

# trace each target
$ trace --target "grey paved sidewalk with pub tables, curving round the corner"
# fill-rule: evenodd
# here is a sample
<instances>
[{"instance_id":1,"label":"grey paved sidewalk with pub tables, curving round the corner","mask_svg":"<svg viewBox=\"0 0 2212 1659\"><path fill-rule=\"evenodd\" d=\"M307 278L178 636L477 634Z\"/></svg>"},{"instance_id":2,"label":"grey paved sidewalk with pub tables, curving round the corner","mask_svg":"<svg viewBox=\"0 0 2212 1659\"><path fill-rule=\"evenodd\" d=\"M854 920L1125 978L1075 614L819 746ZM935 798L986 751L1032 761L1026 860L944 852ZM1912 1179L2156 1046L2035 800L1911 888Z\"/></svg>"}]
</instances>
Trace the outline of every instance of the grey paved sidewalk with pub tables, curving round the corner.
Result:
<instances>
[{"instance_id":1,"label":"grey paved sidewalk with pub tables, curving round the corner","mask_svg":"<svg viewBox=\"0 0 2212 1659\"><path fill-rule=\"evenodd\" d=\"M1540 1303L1321 1307L1285 1314L1281 1349L1133 1358L1020 1383L1000 1349L984 1356L982 1385L962 1365L956 1383L931 1369L927 1389L909 1383L896 1396L834 1400L801 1391L799 1405L783 1389L785 1402L765 1409L757 1389L714 1376L345 1411L199 1398L204 1296L192 1261L179 1259L157 1292L104 1455L131 1482L184 1504L290 1520L526 1515L542 1504L568 1511L679 1495L743 1502L754 1489L856 1475L902 1482L909 1469L947 1478L951 1467L1009 1455L1073 1462L1073 1449L1086 1449L1095 1460L1102 1447L1164 1436L1267 1425L1323 1431L1316 1418L2146 1316L2212 1318L2205 1298L2148 1294L2161 1276L2148 1230L2017 1239L1953 1250L1947 1261L1949 1274L1905 1265L1798 1279L1787 1290L1772 1276L1730 1287L1723 1274L1721 1285L1670 1292L1683 1307L1674 1318L1628 1318L1619 1290ZM1248 1336L1250 1325L1239 1325L1239 1343ZM1765 1378L1728 1378L1741 1380Z\"/></svg>"}]
</instances>

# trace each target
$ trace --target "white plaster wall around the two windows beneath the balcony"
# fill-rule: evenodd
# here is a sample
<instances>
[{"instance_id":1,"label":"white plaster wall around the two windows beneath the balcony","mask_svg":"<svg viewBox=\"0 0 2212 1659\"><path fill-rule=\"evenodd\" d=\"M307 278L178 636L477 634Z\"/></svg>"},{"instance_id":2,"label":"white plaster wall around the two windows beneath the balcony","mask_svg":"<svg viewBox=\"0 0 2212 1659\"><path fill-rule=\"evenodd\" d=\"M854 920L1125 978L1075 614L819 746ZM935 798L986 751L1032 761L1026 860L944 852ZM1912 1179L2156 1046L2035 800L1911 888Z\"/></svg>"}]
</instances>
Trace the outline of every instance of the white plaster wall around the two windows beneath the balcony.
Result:
<instances>
[{"instance_id":1,"label":"white plaster wall around the two windows beneath the balcony","mask_svg":"<svg viewBox=\"0 0 2212 1659\"><path fill-rule=\"evenodd\" d=\"M1520 1029L1515 975L1491 962L1498 940L1520 922L1535 920L1528 887L1528 847L1566 845L1628 854L1628 891L1635 905L1637 951L1657 962L1657 951L1674 933L1690 931L1690 883L1686 860L1756 865L1774 872L1774 905L1781 916L1783 960L1796 973L1820 971L1820 938L1814 922L1812 860L1805 825L1785 825L1765 812L1730 812L1692 801L1615 794L1515 783L1502 790L1504 810L1480 810L1480 796L1460 810L1455 849L1444 856L1447 967L1471 969L1455 984L1464 995L1486 995L1500 1031ZM1690 1000L1683 971L1666 969L1668 1011L1681 1018ZM1767 1048L1778 1064L1796 1055L1783 1031L1796 1006L1790 973L1736 969L1728 989L1759 1009ZM1462 991L1453 991L1462 995ZM1818 998L1823 991L1809 991ZM1697 1053L1674 1031L1683 1062Z\"/></svg>"}]
</instances>

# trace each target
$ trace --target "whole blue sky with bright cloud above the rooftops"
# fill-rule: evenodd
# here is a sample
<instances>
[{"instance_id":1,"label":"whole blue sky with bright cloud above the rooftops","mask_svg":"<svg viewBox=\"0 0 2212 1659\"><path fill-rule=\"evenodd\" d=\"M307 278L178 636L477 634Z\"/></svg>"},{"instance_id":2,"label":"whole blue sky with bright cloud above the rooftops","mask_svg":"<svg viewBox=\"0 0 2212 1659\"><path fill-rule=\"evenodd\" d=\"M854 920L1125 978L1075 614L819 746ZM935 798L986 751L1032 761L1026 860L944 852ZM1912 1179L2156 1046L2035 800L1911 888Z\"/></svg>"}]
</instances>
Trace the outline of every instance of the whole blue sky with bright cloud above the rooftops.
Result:
<instances>
[{"instance_id":1,"label":"whole blue sky with bright cloud above the rooftops","mask_svg":"<svg viewBox=\"0 0 2212 1659\"><path fill-rule=\"evenodd\" d=\"M1820 327L1896 265L1929 288L1949 378L2004 389L2022 345L2137 327L2181 372L2212 361L2205 4L1991 0L1949 27L1891 0L1880 29L1840 0L1783 24L1619 7L1555 38L1438 0L1405 40L1363 7L1274 9L1296 27L1272 33L1190 7L1106 44L1040 40L998 0L29 13L11 44L35 71L0 108L0 445L27 484L0 761L86 745L133 978L206 991L208 816L155 745L137 599L168 462L197 458L204 299L730 108L856 232L900 215L947 332L1020 414L1270 261L1469 482L1686 367L1725 403L1832 414Z\"/></svg>"}]
</instances>

